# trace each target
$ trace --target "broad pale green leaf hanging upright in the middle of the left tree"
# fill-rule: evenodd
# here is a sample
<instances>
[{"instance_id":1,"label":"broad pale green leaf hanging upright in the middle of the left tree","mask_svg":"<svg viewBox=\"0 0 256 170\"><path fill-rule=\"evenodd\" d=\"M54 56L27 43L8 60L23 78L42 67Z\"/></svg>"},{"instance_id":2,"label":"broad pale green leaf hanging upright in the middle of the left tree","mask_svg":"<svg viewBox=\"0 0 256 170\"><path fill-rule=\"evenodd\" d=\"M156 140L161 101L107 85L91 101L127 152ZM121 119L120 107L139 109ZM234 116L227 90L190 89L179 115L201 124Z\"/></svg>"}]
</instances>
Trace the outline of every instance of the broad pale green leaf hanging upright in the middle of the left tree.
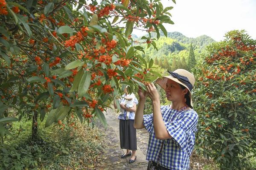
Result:
<instances>
[{"instance_id":1,"label":"broad pale green leaf hanging upright in the middle of the left tree","mask_svg":"<svg viewBox=\"0 0 256 170\"><path fill-rule=\"evenodd\" d=\"M91 75L88 71L85 71L78 86L78 96L81 97L86 94L91 82Z\"/></svg>"}]
</instances>

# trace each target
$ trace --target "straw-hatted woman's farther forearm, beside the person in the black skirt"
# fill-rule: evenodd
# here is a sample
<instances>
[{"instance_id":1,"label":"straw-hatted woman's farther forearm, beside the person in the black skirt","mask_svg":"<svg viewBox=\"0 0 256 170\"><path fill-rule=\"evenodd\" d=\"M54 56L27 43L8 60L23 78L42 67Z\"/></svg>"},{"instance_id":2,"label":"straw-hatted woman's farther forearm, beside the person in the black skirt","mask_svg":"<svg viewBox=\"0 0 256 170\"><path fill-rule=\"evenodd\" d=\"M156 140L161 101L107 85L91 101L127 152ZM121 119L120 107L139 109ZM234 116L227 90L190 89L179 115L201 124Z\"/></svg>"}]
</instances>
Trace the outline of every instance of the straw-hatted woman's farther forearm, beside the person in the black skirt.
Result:
<instances>
[{"instance_id":1,"label":"straw-hatted woman's farther forearm, beside the person in the black skirt","mask_svg":"<svg viewBox=\"0 0 256 170\"><path fill-rule=\"evenodd\" d=\"M146 102L146 99L139 99L138 108L134 118L135 129L145 128L145 126L143 125L143 114L144 114L145 102Z\"/></svg>"}]
</instances>

